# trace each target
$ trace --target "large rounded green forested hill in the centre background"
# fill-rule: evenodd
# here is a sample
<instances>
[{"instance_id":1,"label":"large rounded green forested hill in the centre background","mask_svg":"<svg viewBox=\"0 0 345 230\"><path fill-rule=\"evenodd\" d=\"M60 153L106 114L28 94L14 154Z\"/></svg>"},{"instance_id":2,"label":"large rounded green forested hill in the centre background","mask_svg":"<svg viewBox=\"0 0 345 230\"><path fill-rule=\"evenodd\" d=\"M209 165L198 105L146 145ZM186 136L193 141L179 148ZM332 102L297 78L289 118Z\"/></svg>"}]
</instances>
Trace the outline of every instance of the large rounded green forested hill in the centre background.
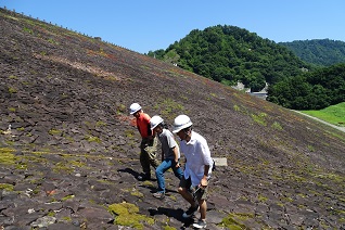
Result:
<instances>
[{"instance_id":1,"label":"large rounded green forested hill in the centre background","mask_svg":"<svg viewBox=\"0 0 345 230\"><path fill-rule=\"evenodd\" d=\"M194 29L166 50L148 55L225 85L242 81L253 91L264 88L266 81L276 84L310 68L288 48L228 25Z\"/></svg>"}]
</instances>

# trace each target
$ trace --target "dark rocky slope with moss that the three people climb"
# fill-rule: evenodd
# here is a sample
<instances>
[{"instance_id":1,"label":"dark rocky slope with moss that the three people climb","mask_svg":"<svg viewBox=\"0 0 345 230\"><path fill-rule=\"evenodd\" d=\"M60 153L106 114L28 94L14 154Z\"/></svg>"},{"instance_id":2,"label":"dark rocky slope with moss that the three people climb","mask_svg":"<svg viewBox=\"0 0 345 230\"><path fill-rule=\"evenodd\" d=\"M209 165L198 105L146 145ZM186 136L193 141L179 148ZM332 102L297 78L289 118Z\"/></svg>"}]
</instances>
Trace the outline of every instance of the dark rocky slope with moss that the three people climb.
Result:
<instances>
[{"instance_id":1,"label":"dark rocky slope with moss that the three people climb","mask_svg":"<svg viewBox=\"0 0 345 230\"><path fill-rule=\"evenodd\" d=\"M0 229L191 228L173 174L164 201L156 181L136 180L132 102L168 124L189 115L228 159L212 180L209 229L344 229L344 132L2 9L0 25Z\"/></svg>"}]
</instances>

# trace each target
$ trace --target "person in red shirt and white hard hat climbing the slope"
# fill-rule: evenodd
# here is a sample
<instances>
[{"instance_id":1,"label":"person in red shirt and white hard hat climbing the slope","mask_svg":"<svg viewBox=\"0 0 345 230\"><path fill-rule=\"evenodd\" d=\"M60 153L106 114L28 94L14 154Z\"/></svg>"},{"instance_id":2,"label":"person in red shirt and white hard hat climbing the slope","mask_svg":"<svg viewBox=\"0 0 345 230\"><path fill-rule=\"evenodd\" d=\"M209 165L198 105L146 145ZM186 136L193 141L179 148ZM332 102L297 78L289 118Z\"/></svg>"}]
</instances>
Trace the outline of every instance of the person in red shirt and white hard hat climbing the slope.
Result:
<instances>
[{"instance_id":1,"label":"person in red shirt and white hard hat climbing the slope","mask_svg":"<svg viewBox=\"0 0 345 230\"><path fill-rule=\"evenodd\" d=\"M156 159L157 138L153 136L151 130L151 117L142 111L140 104L132 103L129 107L129 113L137 118L137 128L142 138L140 143L140 164L143 174L139 175L138 179L150 180L150 165L154 168L158 166L158 161Z\"/></svg>"}]
</instances>

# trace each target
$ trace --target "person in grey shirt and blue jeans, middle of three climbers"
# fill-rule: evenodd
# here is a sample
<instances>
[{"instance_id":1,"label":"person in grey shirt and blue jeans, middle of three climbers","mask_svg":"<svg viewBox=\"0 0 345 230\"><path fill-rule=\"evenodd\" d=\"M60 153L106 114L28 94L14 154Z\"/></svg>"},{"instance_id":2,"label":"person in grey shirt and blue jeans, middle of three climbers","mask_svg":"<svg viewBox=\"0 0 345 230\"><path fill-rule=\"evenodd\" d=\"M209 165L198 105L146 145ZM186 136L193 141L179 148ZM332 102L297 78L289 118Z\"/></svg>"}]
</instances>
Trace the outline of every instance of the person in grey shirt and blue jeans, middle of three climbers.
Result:
<instances>
[{"instance_id":1,"label":"person in grey shirt and blue jeans, middle of three climbers","mask_svg":"<svg viewBox=\"0 0 345 230\"><path fill-rule=\"evenodd\" d=\"M150 119L151 129L157 135L159 142L162 143L162 163L156 168L156 178L158 183L157 192L153 193L156 199L164 199L165 196L165 180L164 173L169 168L173 169L174 175L181 180L183 171L180 167L180 151L177 145L174 135L166 128L164 119L161 116L153 116Z\"/></svg>"}]
</instances>

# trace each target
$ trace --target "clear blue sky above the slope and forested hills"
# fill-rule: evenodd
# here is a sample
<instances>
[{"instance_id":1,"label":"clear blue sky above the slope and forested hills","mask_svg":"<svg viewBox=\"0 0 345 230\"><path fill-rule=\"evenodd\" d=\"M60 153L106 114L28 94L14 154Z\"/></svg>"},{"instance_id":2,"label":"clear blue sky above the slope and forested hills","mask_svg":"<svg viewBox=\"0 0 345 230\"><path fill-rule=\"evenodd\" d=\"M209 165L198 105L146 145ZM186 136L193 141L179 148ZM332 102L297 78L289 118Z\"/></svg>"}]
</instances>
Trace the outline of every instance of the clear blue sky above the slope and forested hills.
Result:
<instances>
[{"instance_id":1,"label":"clear blue sky above the slope and forested hills","mask_svg":"<svg viewBox=\"0 0 345 230\"><path fill-rule=\"evenodd\" d=\"M0 0L0 7L140 53L216 25L276 42L345 41L344 0Z\"/></svg>"}]
</instances>

